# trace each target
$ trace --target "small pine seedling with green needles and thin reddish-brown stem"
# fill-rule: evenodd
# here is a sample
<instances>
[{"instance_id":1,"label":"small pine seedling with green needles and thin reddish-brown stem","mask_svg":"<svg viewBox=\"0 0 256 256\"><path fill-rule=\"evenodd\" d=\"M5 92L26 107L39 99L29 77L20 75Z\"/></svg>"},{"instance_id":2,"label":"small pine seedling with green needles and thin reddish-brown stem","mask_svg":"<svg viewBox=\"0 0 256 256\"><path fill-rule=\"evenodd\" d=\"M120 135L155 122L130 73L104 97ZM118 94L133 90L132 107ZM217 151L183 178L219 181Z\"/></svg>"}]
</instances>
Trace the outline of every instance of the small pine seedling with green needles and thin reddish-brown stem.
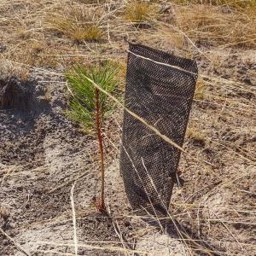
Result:
<instances>
[{"instance_id":1,"label":"small pine seedling with green needles and thin reddish-brown stem","mask_svg":"<svg viewBox=\"0 0 256 256\"><path fill-rule=\"evenodd\" d=\"M107 96L98 90L91 82L99 85L103 90L112 93L117 88L117 66L107 63L102 66L84 67L74 66L67 73L67 82L72 91L72 99L69 102L68 115L79 122L86 132L96 134L99 144L100 169L102 173L102 186L100 198L100 210L105 211L104 188L105 166L104 148L102 137L102 125L107 113L113 109L113 104L108 102ZM90 79L90 80L89 80Z\"/></svg>"}]
</instances>

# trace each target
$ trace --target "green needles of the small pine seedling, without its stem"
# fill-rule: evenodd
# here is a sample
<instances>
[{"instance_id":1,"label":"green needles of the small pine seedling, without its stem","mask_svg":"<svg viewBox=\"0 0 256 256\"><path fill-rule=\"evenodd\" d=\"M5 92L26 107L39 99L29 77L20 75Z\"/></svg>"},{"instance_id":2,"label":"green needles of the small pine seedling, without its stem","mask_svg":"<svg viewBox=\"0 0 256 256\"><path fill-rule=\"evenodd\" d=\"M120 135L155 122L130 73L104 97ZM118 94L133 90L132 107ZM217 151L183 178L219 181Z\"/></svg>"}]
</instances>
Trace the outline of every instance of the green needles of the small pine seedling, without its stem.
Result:
<instances>
[{"instance_id":1,"label":"green needles of the small pine seedling, without its stem","mask_svg":"<svg viewBox=\"0 0 256 256\"><path fill-rule=\"evenodd\" d=\"M116 65L107 62L103 66L76 65L66 74L69 88L72 90L67 115L82 125L84 131L94 131L96 126L96 88L87 78L112 93L118 85L118 72L119 68ZM102 110L101 122L103 122L106 113L113 109L113 103L108 102L107 96L101 91L99 102Z\"/></svg>"}]
</instances>

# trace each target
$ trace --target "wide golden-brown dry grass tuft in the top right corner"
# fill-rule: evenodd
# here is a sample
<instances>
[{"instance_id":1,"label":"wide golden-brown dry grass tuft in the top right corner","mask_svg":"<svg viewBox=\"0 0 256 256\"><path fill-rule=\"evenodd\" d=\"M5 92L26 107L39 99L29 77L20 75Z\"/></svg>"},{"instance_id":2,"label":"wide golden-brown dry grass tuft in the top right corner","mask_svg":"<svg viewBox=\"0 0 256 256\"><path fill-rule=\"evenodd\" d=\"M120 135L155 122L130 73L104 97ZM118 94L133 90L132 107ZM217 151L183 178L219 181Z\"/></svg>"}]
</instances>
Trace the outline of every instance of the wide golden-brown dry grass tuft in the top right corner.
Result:
<instances>
[{"instance_id":1,"label":"wide golden-brown dry grass tuft in the top right corner","mask_svg":"<svg viewBox=\"0 0 256 256\"><path fill-rule=\"evenodd\" d=\"M179 6L175 11L177 26L199 45L256 46L255 16L207 5Z\"/></svg>"}]
</instances>

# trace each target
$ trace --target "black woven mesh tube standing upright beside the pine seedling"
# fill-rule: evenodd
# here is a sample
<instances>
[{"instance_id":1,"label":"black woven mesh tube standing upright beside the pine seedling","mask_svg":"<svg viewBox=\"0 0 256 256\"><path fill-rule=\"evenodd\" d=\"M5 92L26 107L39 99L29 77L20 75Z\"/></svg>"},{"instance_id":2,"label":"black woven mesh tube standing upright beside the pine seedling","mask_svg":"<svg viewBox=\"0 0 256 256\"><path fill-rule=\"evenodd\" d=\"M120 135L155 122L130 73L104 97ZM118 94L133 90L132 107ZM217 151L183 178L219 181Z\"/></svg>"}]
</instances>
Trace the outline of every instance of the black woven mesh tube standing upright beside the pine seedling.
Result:
<instances>
[{"instance_id":1,"label":"black woven mesh tube standing upright beside the pine seedling","mask_svg":"<svg viewBox=\"0 0 256 256\"><path fill-rule=\"evenodd\" d=\"M195 61L129 44L125 107L182 146L196 79ZM179 158L180 150L125 111L120 170L131 207L166 214Z\"/></svg>"}]
</instances>

